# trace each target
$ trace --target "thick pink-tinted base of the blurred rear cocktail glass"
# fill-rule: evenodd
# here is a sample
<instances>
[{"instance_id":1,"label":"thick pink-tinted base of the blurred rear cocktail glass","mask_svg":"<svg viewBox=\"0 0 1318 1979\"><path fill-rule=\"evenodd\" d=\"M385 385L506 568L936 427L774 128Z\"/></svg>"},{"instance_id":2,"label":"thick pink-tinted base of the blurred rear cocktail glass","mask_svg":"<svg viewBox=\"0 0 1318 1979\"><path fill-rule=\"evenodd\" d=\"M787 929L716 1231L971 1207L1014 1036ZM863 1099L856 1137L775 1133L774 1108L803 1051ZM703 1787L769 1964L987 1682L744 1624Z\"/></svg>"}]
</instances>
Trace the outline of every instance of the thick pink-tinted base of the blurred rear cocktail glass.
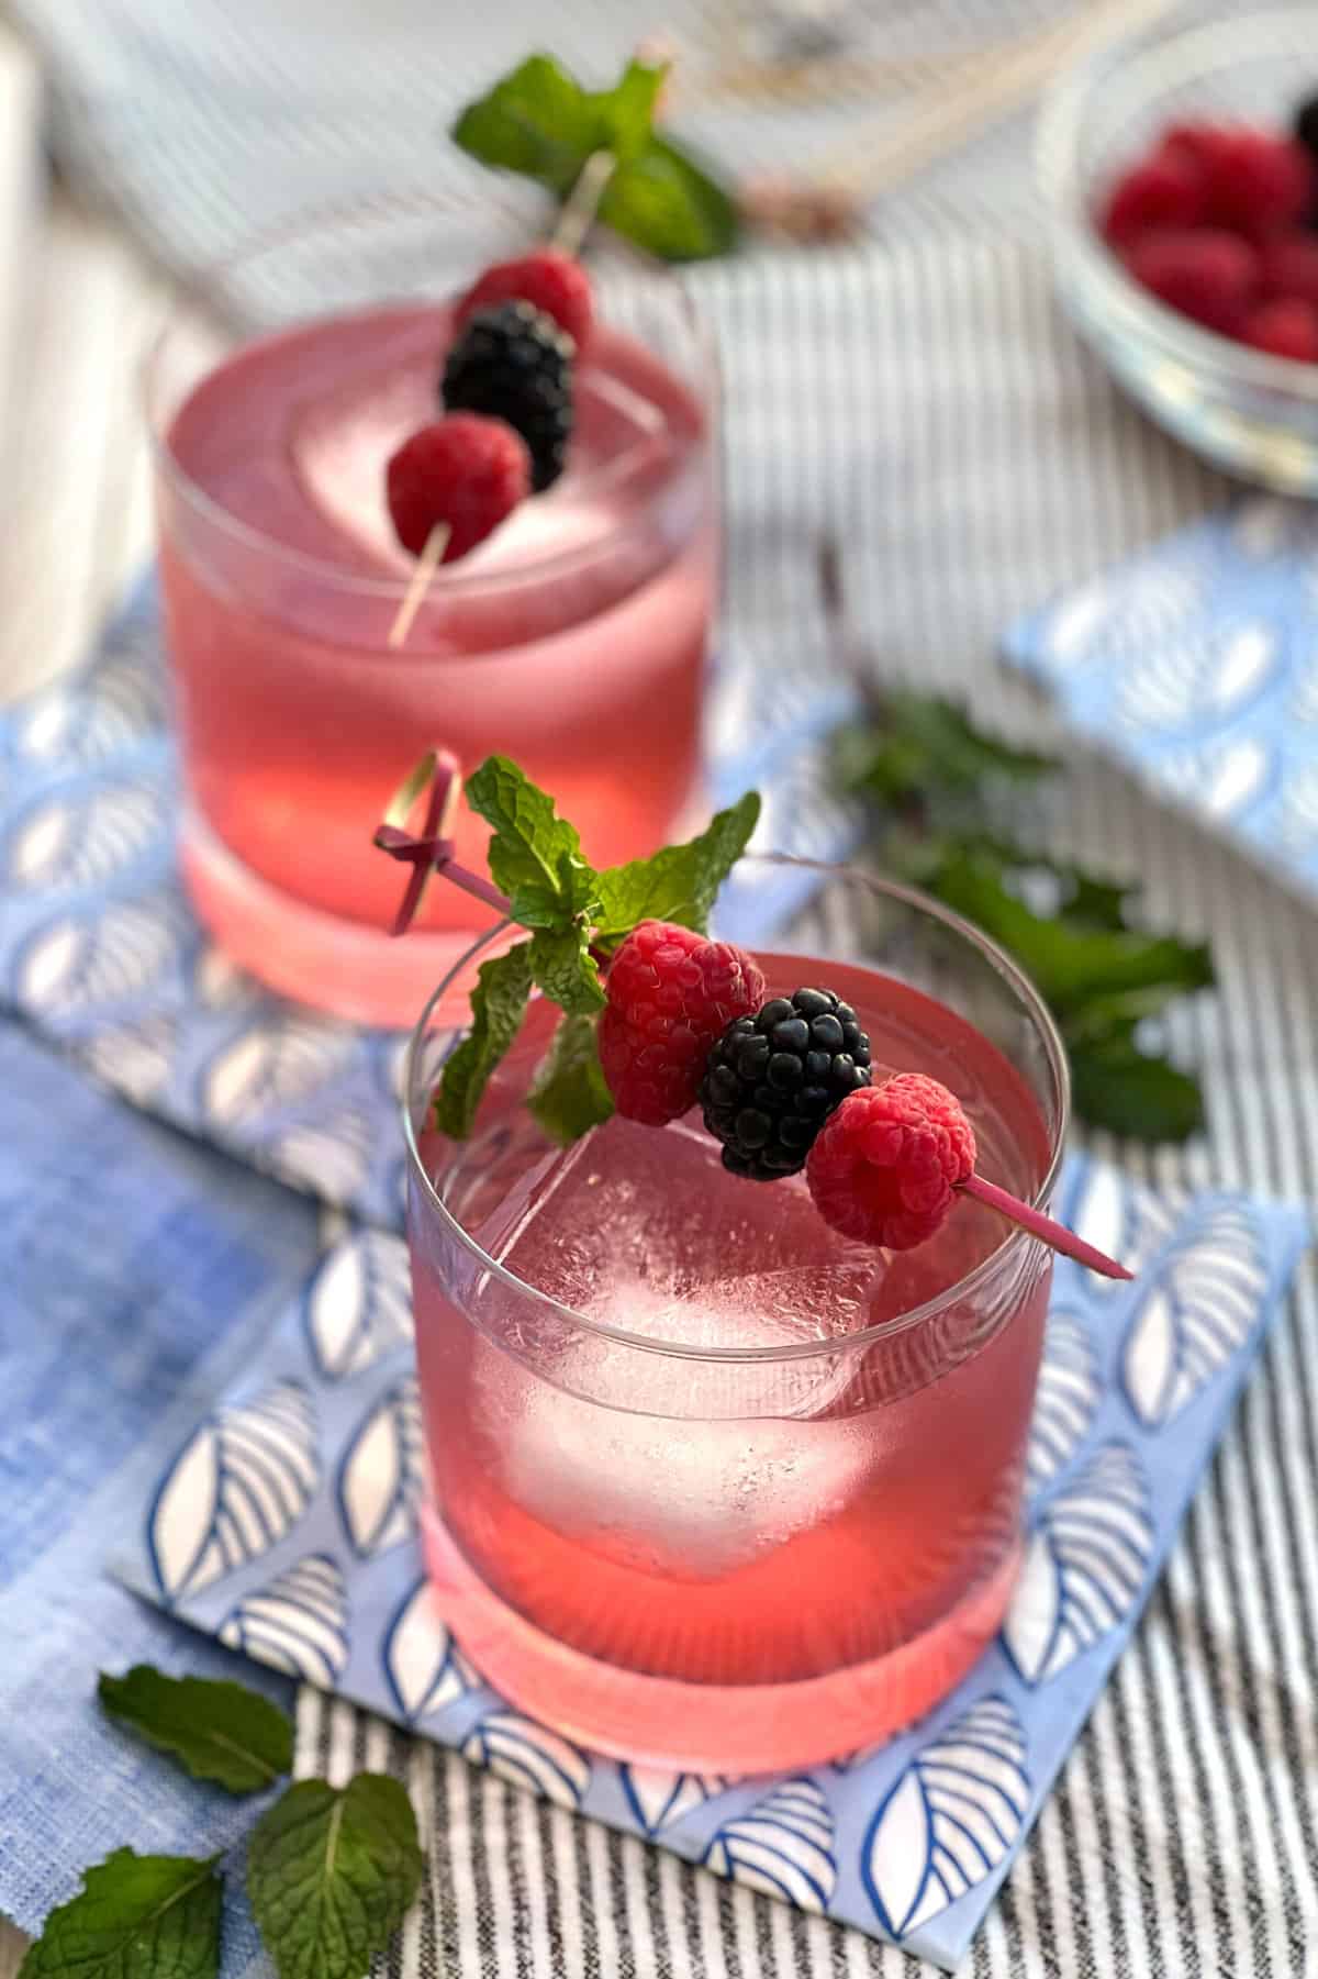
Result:
<instances>
[{"instance_id":1,"label":"thick pink-tinted base of the blurred rear cocktail glass","mask_svg":"<svg viewBox=\"0 0 1318 1979\"><path fill-rule=\"evenodd\" d=\"M467 954L481 928L497 918L489 908L471 928L447 934L408 932L394 940L380 928L340 920L271 887L245 867L188 809L178 835L182 875L192 904L216 942L267 990L352 1023L408 1029L437 982ZM402 871L402 869L400 869ZM483 950L483 956L493 954ZM469 993L477 962L449 986L441 1019L471 1015Z\"/></svg>"}]
</instances>

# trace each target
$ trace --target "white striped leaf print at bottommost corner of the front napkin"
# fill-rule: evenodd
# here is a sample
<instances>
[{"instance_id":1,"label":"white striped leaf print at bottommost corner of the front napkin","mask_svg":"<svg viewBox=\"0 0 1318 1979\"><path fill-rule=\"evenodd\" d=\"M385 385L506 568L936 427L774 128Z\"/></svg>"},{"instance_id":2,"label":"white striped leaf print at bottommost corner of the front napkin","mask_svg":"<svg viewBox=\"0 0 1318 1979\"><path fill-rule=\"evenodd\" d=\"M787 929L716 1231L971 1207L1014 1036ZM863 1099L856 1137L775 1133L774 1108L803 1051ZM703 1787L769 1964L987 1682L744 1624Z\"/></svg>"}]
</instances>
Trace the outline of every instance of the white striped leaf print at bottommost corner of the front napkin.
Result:
<instances>
[{"instance_id":1,"label":"white striped leaf print at bottommost corner of the front napkin","mask_svg":"<svg viewBox=\"0 0 1318 1979\"><path fill-rule=\"evenodd\" d=\"M861 1874L883 1930L908 1937L991 1876L1027 1809L1021 1722L984 1698L916 1751L875 1811Z\"/></svg>"}]
</instances>

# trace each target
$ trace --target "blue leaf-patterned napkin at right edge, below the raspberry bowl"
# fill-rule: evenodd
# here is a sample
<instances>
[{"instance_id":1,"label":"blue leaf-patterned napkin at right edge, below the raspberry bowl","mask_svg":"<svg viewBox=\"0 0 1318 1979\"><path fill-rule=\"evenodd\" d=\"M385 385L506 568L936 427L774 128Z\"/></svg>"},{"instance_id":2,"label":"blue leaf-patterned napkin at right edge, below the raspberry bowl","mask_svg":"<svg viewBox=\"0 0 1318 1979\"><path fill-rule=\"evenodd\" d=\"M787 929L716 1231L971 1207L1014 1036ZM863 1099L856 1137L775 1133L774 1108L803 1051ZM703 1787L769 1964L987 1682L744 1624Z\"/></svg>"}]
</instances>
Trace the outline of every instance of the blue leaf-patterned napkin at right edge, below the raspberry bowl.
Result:
<instances>
[{"instance_id":1,"label":"blue leaf-patterned napkin at right edge, below the raspberry bowl","mask_svg":"<svg viewBox=\"0 0 1318 1979\"><path fill-rule=\"evenodd\" d=\"M1247 497L1029 613L1007 657L1158 796L1318 893L1318 507Z\"/></svg>"}]
</instances>

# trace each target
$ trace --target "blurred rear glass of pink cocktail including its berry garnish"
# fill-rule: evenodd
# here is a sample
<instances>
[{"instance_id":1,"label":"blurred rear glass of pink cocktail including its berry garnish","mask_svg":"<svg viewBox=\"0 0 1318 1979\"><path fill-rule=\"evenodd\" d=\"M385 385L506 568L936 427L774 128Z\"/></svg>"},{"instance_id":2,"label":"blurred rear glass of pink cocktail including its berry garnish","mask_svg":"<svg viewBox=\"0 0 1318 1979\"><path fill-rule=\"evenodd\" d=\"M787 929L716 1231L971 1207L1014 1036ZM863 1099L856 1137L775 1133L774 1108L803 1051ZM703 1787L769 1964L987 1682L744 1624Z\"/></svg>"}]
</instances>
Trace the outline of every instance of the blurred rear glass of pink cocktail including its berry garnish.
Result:
<instances>
[{"instance_id":1,"label":"blurred rear glass of pink cocktail including its berry garnish","mask_svg":"<svg viewBox=\"0 0 1318 1979\"><path fill-rule=\"evenodd\" d=\"M188 889L243 968L344 1017L410 1023L485 922L431 887L390 940L372 831L425 750L513 750L617 863L699 800L710 346L665 271L606 237L586 277L532 224L422 194L295 228L186 299L148 372ZM483 869L465 807L455 837Z\"/></svg>"}]
</instances>

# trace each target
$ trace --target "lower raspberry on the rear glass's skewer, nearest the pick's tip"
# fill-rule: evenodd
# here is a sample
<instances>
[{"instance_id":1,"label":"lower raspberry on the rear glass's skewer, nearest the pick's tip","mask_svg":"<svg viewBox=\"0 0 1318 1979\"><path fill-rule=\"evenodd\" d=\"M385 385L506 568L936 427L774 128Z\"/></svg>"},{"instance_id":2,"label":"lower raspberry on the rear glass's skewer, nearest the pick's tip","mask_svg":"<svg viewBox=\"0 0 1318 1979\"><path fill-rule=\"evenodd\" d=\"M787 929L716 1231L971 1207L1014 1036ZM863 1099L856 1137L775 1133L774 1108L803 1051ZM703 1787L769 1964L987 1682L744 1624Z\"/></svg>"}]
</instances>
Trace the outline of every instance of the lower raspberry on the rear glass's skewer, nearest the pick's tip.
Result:
<instances>
[{"instance_id":1,"label":"lower raspberry on the rear glass's skewer, nearest the pick's tip","mask_svg":"<svg viewBox=\"0 0 1318 1979\"><path fill-rule=\"evenodd\" d=\"M394 530L420 556L435 522L449 524L443 562L465 556L530 493L530 455L503 420L455 412L406 439L386 469Z\"/></svg>"}]
</instances>

